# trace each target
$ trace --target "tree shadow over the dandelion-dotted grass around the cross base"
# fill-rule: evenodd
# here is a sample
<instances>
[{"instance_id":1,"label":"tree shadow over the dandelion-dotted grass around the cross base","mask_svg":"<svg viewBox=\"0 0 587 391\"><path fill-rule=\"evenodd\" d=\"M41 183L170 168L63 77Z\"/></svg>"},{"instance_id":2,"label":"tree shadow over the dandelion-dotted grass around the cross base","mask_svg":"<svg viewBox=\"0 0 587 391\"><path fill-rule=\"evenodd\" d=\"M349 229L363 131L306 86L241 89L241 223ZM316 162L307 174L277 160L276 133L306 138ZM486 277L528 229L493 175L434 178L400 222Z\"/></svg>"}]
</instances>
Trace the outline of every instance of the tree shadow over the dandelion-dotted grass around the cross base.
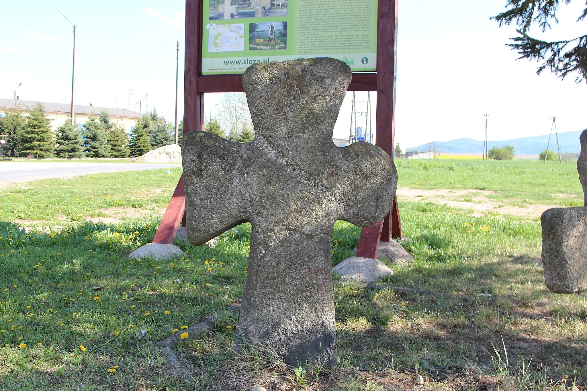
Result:
<instances>
[{"instance_id":1,"label":"tree shadow over the dandelion-dotted grass around the cross base","mask_svg":"<svg viewBox=\"0 0 587 391\"><path fill-rule=\"evenodd\" d=\"M12 345L0 354L9 362L5 367L9 379L22 379L28 373L45 379L38 380L42 385L48 377L63 387L88 379L106 384L107 376L113 376L107 370L119 365L116 373L123 376L123 383L169 383L162 380L167 379L165 365L144 365L145 352L156 351L154 344L174 329L223 312L241 297L250 226L226 232L212 248L180 243L186 254L176 260L128 259L131 250L151 241L157 225L157 220L83 223L61 233L27 234L12 223L0 222L0 284L5 286L0 288L6 289L0 291L0 329L6 330L0 340ZM352 254L359 234L357 227L336 223L333 264ZM412 246L420 256L409 266L394 266L396 274L384 283L464 294L468 302L335 288L342 370L414 372L417 365L441 382L464 376L466 368L475 365L480 372L491 373L495 354L491 343L500 349L503 336L512 371L523 357L526 362L532 359L535 372L542 365L552 378L576 373L584 382L584 298L549 294L542 269L531 256L486 259L450 254L453 245L450 233L414 236L404 246ZM428 256L421 256L426 251ZM544 298L553 304L533 303ZM215 370L228 358L231 330L237 322L222 317L213 335L186 346L184 359L202 376L195 383L198 386L217 380ZM32 351L36 342L52 346L53 353L26 356L15 348L25 343ZM91 348L77 361L73 349L79 345ZM18 372L25 362L31 365L29 371Z\"/></svg>"}]
</instances>

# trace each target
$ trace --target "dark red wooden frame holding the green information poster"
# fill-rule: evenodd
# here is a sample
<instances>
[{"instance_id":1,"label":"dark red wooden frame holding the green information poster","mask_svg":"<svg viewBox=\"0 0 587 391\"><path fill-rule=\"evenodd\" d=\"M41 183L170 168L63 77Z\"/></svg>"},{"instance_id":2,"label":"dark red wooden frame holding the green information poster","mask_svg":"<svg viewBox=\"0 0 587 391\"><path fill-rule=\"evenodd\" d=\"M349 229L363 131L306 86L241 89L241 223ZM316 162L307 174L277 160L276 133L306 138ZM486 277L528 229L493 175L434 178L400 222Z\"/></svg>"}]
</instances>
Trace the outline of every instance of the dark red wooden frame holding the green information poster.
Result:
<instances>
[{"instance_id":1,"label":"dark red wooden frame holding the green information poster","mask_svg":"<svg viewBox=\"0 0 587 391\"><path fill-rule=\"evenodd\" d=\"M353 72L349 91L377 91L376 145L394 157L397 11L399 0L379 0L377 5L377 72ZM203 130L204 93L244 92L242 74L203 75L203 0L185 1L184 132ZM183 176L153 243L173 243L181 220L185 225ZM379 242L402 237L402 225L394 199L382 222L361 231L357 256L376 258Z\"/></svg>"}]
</instances>

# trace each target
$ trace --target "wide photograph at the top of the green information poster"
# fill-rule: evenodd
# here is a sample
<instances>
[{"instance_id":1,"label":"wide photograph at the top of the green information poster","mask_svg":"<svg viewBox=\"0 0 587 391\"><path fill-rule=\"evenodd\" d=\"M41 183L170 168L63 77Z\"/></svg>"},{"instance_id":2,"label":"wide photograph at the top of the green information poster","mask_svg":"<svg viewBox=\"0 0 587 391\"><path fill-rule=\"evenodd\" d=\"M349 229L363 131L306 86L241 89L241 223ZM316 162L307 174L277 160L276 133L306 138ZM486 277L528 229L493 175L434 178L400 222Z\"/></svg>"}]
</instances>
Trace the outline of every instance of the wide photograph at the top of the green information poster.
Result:
<instances>
[{"instance_id":1,"label":"wide photograph at the top of the green information poster","mask_svg":"<svg viewBox=\"0 0 587 391\"><path fill-rule=\"evenodd\" d=\"M288 15L289 0L210 0L210 20Z\"/></svg>"}]
</instances>

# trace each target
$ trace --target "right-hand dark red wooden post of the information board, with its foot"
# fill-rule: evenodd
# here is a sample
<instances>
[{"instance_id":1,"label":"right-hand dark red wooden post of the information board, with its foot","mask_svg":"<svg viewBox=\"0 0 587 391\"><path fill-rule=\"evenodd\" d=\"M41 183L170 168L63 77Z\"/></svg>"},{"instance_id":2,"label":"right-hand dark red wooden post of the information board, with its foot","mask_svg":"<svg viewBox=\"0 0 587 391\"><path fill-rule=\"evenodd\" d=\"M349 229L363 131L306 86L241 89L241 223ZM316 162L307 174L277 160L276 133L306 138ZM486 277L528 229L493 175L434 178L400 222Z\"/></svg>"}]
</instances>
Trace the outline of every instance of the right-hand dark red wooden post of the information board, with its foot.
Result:
<instances>
[{"instance_id":1,"label":"right-hand dark red wooden post of the information board, with its foot","mask_svg":"<svg viewBox=\"0 0 587 391\"><path fill-rule=\"evenodd\" d=\"M399 0L380 0L377 8L377 108L375 144L392 158L396 130L396 70L397 70L397 12ZM392 218L394 217L394 218ZM379 241L402 237L402 226L393 200L390 213L380 223L381 235L373 237L376 226L363 228L357 246L357 256L377 258ZM376 242L376 243L375 243Z\"/></svg>"}]
</instances>

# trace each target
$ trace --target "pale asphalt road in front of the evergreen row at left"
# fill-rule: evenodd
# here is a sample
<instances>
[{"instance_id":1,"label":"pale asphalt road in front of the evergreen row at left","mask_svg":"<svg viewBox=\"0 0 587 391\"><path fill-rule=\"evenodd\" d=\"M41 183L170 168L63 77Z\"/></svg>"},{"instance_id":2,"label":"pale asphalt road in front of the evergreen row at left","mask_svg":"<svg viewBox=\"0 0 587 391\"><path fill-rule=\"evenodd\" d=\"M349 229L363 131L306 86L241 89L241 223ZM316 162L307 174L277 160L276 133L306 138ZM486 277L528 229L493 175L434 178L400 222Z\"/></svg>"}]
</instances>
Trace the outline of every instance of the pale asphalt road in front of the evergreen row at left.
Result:
<instances>
[{"instance_id":1,"label":"pale asphalt road in front of the evergreen row at left","mask_svg":"<svg viewBox=\"0 0 587 391\"><path fill-rule=\"evenodd\" d=\"M181 167L181 164L86 163L86 162L0 162L0 185L49 178L72 178L77 175L117 171L140 171Z\"/></svg>"}]
</instances>

